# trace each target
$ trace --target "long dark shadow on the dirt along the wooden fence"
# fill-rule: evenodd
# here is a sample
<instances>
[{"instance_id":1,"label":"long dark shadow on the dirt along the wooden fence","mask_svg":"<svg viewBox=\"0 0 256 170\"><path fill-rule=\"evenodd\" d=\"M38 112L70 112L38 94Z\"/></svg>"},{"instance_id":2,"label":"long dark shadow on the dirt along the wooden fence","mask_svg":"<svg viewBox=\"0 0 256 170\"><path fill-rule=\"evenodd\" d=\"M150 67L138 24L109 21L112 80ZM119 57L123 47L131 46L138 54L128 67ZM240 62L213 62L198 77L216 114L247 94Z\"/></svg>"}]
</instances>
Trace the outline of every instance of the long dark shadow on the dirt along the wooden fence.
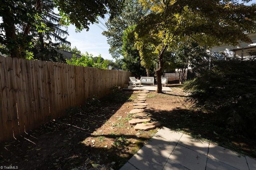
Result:
<instances>
[{"instance_id":1,"label":"long dark shadow on the dirt along the wooden fence","mask_svg":"<svg viewBox=\"0 0 256 170\"><path fill-rule=\"evenodd\" d=\"M132 92L116 93L99 100L91 99L78 108L71 107L64 117L51 120L20 138L0 145L0 165L18 166L19 169L110 169L121 167L132 156L122 147L143 145L131 143L135 135L92 135L118 109L129 101ZM94 147L85 145L88 137L108 137L114 145ZM120 150L121 149L121 150ZM139 148L138 148L139 149ZM137 150L138 150L137 149ZM136 153L137 150L134 150ZM122 157L120 157L120 152ZM97 162L98 161L98 162ZM115 164L113 162L116 162ZM112 163L112 164L111 164ZM97 167L93 167L97 165Z\"/></svg>"}]
</instances>

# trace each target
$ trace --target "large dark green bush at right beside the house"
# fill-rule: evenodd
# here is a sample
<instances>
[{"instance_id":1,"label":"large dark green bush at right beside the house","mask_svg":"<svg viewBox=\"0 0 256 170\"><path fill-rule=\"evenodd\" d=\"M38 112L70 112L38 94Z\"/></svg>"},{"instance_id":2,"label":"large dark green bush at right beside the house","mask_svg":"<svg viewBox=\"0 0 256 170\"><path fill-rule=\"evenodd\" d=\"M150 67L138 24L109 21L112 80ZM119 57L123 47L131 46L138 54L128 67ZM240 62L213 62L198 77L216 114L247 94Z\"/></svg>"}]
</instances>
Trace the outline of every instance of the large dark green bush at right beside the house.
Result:
<instances>
[{"instance_id":1,"label":"large dark green bush at right beside the house","mask_svg":"<svg viewBox=\"0 0 256 170\"><path fill-rule=\"evenodd\" d=\"M213 61L184 84L199 106L212 111L227 130L256 135L256 61Z\"/></svg>"}]
</instances>

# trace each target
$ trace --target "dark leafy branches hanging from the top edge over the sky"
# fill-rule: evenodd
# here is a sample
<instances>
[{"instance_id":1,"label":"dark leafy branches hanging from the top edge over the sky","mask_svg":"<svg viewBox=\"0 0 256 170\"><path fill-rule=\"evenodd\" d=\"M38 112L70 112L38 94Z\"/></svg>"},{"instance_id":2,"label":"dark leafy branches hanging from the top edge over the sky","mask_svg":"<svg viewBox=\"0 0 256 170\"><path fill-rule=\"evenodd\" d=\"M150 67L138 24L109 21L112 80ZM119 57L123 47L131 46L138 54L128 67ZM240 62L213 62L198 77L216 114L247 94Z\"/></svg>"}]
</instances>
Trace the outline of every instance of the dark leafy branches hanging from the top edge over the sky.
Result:
<instances>
[{"instance_id":1,"label":"dark leafy branches hanging from the top edge over the sky","mask_svg":"<svg viewBox=\"0 0 256 170\"><path fill-rule=\"evenodd\" d=\"M89 30L90 23L97 23L98 17L105 18L110 14L110 20L117 16L122 8L124 0L54 0L60 11L62 21L66 24L74 24L76 29Z\"/></svg>"}]
</instances>

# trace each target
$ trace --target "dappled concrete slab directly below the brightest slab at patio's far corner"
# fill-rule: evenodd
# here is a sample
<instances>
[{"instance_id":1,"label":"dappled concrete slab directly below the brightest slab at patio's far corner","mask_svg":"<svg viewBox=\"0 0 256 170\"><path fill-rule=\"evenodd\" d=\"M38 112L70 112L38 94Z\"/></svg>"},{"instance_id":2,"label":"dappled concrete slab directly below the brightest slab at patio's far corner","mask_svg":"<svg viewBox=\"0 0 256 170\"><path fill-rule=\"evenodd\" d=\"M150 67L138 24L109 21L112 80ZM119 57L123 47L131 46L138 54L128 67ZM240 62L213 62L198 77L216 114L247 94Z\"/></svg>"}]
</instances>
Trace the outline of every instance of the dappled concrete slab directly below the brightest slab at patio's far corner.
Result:
<instances>
[{"instance_id":1,"label":"dappled concrete slab directly below the brightest slab at patio's far corner","mask_svg":"<svg viewBox=\"0 0 256 170\"><path fill-rule=\"evenodd\" d=\"M154 136L144 146L158 152L166 158L169 158L176 145L176 143L170 142L167 139Z\"/></svg>"}]
</instances>

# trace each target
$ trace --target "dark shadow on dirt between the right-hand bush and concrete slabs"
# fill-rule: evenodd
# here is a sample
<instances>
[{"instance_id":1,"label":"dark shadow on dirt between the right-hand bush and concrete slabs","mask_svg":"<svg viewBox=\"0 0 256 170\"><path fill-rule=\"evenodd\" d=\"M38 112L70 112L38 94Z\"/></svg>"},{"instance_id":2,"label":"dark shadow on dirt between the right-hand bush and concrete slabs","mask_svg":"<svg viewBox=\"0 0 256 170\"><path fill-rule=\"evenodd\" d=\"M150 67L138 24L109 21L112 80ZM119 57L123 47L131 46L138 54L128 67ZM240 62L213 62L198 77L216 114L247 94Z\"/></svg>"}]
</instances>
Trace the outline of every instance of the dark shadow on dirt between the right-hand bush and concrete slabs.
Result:
<instances>
[{"instance_id":1,"label":"dark shadow on dirt between the right-hand bush and concrete slabs","mask_svg":"<svg viewBox=\"0 0 256 170\"><path fill-rule=\"evenodd\" d=\"M176 108L171 111L147 109L153 121L163 127L181 131L194 138L210 141L216 145L236 150L256 158L255 141L225 130L210 113L199 110Z\"/></svg>"}]
</instances>

